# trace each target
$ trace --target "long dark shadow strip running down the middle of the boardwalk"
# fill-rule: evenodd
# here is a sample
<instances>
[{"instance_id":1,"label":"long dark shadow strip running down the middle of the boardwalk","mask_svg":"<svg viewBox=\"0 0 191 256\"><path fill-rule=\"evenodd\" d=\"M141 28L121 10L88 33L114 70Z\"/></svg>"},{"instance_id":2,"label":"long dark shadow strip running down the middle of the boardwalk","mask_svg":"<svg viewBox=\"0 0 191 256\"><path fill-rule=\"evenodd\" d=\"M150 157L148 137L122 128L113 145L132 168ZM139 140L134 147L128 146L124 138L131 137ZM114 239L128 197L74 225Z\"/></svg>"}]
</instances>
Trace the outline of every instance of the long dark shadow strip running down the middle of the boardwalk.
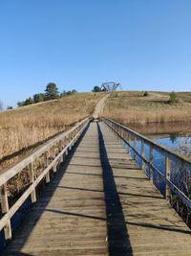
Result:
<instances>
[{"instance_id":1,"label":"long dark shadow strip running down the middle of the boardwalk","mask_svg":"<svg viewBox=\"0 0 191 256\"><path fill-rule=\"evenodd\" d=\"M133 255L128 230L124 219L120 198L112 167L110 165L103 135L97 123L99 135L99 151L101 167L103 169L103 185L107 214L108 246L110 256Z\"/></svg>"}]
</instances>

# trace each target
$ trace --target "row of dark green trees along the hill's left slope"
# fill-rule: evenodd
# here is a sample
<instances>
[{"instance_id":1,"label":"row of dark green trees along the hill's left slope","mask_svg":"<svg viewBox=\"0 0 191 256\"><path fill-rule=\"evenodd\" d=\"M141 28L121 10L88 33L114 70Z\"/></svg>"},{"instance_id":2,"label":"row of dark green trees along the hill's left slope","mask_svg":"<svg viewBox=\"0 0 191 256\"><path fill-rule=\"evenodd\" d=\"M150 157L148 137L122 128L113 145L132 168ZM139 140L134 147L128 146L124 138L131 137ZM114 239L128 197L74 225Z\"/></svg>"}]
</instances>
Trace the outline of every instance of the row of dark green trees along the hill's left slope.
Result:
<instances>
[{"instance_id":1,"label":"row of dark green trees along the hill's left slope","mask_svg":"<svg viewBox=\"0 0 191 256\"><path fill-rule=\"evenodd\" d=\"M24 106L24 105L42 103L46 101L56 100L74 93L76 93L76 90L72 90L72 91L64 90L60 93L57 85L54 82L49 82L46 86L45 93L36 93L32 97L27 98L25 101L18 102L17 105Z\"/></svg>"}]
</instances>

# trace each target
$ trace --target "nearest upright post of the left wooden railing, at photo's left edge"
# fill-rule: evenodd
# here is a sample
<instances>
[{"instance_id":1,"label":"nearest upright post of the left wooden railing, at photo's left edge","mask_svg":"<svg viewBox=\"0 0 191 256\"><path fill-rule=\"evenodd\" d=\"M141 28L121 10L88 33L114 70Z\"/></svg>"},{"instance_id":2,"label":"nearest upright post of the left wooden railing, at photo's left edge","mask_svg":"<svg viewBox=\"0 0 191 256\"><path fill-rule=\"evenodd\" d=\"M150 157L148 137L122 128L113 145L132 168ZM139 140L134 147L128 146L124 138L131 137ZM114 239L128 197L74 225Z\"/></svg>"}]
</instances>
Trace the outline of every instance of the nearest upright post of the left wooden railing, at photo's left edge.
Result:
<instances>
[{"instance_id":1,"label":"nearest upright post of the left wooden railing, at photo's left edge","mask_svg":"<svg viewBox=\"0 0 191 256\"><path fill-rule=\"evenodd\" d=\"M8 201L8 191L7 183L1 186L1 211L2 214L9 212L9 201ZM5 239L11 240L11 221L9 220L4 227Z\"/></svg>"}]
</instances>

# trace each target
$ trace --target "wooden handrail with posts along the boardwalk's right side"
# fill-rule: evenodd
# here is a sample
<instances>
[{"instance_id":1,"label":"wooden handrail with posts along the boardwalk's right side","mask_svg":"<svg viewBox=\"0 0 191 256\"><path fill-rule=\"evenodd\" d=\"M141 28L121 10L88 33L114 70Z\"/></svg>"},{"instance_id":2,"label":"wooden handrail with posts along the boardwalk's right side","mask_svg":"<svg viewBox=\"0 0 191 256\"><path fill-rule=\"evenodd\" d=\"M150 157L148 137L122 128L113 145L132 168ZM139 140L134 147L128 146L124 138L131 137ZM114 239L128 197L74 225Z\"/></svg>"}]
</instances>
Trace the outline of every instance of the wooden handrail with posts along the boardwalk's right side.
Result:
<instances>
[{"instance_id":1,"label":"wooden handrail with posts along the boardwalk's right side","mask_svg":"<svg viewBox=\"0 0 191 256\"><path fill-rule=\"evenodd\" d=\"M133 129L126 128L120 124L118 124L116 121L113 121L109 118L102 117L101 118L105 124L109 126L109 128L112 128L112 130L117 134L117 136L128 145L128 151L134 151L135 155L137 155L144 165L147 166L147 168L150 171L156 172L163 180L165 180L166 183L166 189L165 189L165 197L169 198L170 193L174 193L180 200L191 210L191 199L188 198L180 189L171 181L171 162L179 162L181 167L184 167L185 169L188 169L191 171L191 161L186 158L185 156L181 155L180 153L170 151L169 149L159 145L155 141L139 134L138 132L134 131ZM129 137L132 136L134 139L138 139L141 142L141 153L135 149L134 146L131 145ZM144 145L147 145L150 149L150 159L146 159L144 155ZM153 151L158 151L162 155L165 156L165 174L162 174L159 169L154 165L154 155ZM141 166L142 169L145 168L145 166ZM150 173L150 172L149 172ZM151 178L149 175L148 178Z\"/></svg>"}]
</instances>

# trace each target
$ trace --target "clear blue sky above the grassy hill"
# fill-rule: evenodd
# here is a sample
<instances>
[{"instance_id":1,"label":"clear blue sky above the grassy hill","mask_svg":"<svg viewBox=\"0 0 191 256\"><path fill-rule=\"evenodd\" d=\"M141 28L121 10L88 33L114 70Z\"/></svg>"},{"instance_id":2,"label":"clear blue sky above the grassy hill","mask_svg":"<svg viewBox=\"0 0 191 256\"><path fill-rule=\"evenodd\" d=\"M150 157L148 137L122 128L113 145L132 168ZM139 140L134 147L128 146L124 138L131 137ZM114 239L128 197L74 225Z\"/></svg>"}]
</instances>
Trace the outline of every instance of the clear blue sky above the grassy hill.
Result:
<instances>
[{"instance_id":1,"label":"clear blue sky above the grassy hill","mask_svg":"<svg viewBox=\"0 0 191 256\"><path fill-rule=\"evenodd\" d=\"M191 90L191 0L0 0L0 99L54 81Z\"/></svg>"}]
</instances>

